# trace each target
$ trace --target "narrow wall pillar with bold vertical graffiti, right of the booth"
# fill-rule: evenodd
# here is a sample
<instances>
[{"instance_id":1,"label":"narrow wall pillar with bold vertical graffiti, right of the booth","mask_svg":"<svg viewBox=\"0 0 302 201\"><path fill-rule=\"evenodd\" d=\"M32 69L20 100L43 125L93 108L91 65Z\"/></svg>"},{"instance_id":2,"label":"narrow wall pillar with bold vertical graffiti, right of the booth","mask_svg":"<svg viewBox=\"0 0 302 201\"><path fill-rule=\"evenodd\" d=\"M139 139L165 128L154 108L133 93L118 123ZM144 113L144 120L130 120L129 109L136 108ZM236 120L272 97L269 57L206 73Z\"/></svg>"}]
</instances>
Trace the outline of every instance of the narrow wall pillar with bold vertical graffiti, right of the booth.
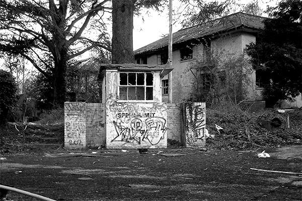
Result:
<instances>
[{"instance_id":1,"label":"narrow wall pillar with bold vertical graffiti, right of the booth","mask_svg":"<svg viewBox=\"0 0 302 201\"><path fill-rule=\"evenodd\" d=\"M185 138L186 146L205 146L205 103L186 105Z\"/></svg>"}]
</instances>

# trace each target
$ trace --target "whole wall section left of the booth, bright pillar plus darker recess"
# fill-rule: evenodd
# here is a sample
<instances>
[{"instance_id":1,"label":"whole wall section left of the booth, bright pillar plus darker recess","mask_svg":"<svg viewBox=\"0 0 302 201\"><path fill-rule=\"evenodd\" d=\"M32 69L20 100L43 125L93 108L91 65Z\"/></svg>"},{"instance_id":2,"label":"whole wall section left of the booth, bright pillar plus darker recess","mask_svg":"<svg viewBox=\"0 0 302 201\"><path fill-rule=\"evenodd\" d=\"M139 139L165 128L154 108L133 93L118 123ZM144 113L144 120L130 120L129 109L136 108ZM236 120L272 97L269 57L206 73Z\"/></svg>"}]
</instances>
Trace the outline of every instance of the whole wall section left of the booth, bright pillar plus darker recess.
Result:
<instances>
[{"instance_id":1,"label":"whole wall section left of the booth, bright pillar plus darker recess","mask_svg":"<svg viewBox=\"0 0 302 201\"><path fill-rule=\"evenodd\" d=\"M69 149L105 146L105 104L64 104L64 145Z\"/></svg>"}]
</instances>

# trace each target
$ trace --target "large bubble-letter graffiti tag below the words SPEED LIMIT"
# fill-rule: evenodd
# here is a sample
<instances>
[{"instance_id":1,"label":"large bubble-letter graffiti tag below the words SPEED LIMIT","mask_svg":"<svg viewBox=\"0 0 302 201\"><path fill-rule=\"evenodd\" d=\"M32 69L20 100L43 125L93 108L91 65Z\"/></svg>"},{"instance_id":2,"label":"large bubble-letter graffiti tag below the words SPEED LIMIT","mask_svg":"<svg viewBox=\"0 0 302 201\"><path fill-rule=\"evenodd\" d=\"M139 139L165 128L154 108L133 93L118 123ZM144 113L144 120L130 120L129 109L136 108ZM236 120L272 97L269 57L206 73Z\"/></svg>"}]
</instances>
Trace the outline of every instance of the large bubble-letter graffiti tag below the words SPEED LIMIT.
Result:
<instances>
[{"instance_id":1,"label":"large bubble-letter graffiti tag below the words SPEED LIMIT","mask_svg":"<svg viewBox=\"0 0 302 201\"><path fill-rule=\"evenodd\" d=\"M130 124L123 124L121 119L118 120L113 121L117 136L111 142L137 142L141 144L142 141L147 141L151 145L157 145L164 139L167 131L166 120L162 117L150 117L145 121L133 118Z\"/></svg>"}]
</instances>

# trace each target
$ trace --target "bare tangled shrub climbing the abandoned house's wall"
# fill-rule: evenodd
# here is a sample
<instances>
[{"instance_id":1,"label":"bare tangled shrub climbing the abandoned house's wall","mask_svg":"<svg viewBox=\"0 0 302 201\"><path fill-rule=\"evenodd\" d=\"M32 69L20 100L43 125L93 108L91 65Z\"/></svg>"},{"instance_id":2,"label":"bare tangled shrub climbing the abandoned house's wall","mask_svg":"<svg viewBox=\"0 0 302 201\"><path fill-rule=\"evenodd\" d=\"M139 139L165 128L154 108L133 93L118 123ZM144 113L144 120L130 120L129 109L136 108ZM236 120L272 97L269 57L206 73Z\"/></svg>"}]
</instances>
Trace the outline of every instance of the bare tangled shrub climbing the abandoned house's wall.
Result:
<instances>
[{"instance_id":1,"label":"bare tangled shrub climbing the abandoned house's wall","mask_svg":"<svg viewBox=\"0 0 302 201\"><path fill-rule=\"evenodd\" d=\"M209 59L197 57L187 69L194 74L191 100L207 105L222 100L239 104L250 85L252 69L248 66L249 61L244 54L212 50Z\"/></svg>"}]
</instances>

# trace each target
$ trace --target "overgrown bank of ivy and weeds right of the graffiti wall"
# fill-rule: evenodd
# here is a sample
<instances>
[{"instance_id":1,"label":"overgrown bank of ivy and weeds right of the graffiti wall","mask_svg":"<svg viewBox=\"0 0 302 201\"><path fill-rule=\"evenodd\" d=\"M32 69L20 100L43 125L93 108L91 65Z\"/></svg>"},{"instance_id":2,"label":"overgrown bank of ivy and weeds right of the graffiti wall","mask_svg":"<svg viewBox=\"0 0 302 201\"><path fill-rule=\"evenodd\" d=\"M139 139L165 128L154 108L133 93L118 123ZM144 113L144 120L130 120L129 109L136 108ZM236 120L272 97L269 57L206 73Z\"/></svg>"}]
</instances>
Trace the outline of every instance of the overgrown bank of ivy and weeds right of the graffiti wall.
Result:
<instances>
[{"instance_id":1,"label":"overgrown bank of ivy and weeds right of the graffiti wall","mask_svg":"<svg viewBox=\"0 0 302 201\"><path fill-rule=\"evenodd\" d=\"M215 137L208 138L206 145L218 149L238 150L301 143L302 109L296 109L288 115L290 128L287 128L287 114L280 114L273 109L251 113L228 103L207 108L207 129L209 134L214 134ZM278 118L282 122L276 130L268 131L261 126L262 120L271 121L273 118ZM218 132L215 124L223 130Z\"/></svg>"}]
</instances>

